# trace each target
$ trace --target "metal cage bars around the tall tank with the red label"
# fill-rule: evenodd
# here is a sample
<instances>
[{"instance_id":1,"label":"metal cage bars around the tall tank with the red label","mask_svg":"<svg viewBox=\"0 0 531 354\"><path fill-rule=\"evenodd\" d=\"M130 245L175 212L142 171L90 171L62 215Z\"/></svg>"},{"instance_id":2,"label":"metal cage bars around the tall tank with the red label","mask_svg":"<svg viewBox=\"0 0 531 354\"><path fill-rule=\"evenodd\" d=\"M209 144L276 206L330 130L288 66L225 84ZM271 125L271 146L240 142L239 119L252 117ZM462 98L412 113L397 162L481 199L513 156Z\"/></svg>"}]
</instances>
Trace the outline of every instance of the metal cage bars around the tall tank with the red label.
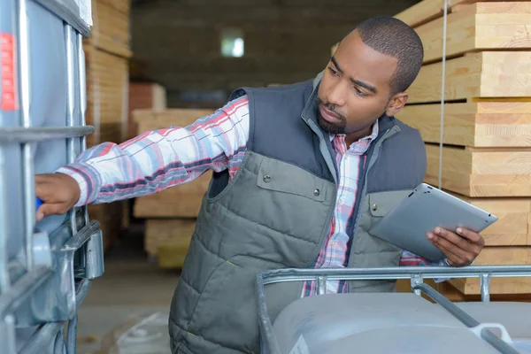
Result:
<instances>
[{"instance_id":1,"label":"metal cage bars around the tall tank with the red label","mask_svg":"<svg viewBox=\"0 0 531 354\"><path fill-rule=\"evenodd\" d=\"M67 105L66 124L62 127L32 127L29 108L31 102L29 58L33 53L29 52L27 23L27 4L30 1L42 5L63 20ZM15 80L19 85L18 111L22 123L21 127L0 127L0 149L7 144L19 144L22 150L25 221L25 235L21 235L24 237L25 244L24 273L13 282L9 273L9 259L6 257L7 235L5 230L0 228L0 352L5 354L42 353L43 348L50 345L53 345L54 353L74 354L76 352L77 309L87 296L92 280L104 273L103 239L99 222L89 220L86 206L73 208L69 211L69 218L59 228L68 228L69 235L72 235L60 251L71 252L73 255L70 258L72 264L69 266L72 271L67 274L69 279L65 281L73 283L73 294L69 296L75 299L73 300L75 314L66 321L39 324L35 333L19 345L20 349L17 350L15 313L30 296L35 294L35 291L42 288L42 284L49 280L56 271L51 261L49 235L35 231L35 159L32 154L35 148L32 144L65 139L67 162L72 163L76 158L75 144L81 144L81 151L86 150L86 136L95 131L94 127L86 125L85 120L87 89L82 40L83 37L90 35L90 28L89 24L81 19L81 8L78 4L80 2L76 0L6 0L0 6L0 12L10 14L12 18L12 26L7 30L17 38ZM76 102L76 97L81 97L81 100ZM76 104L78 104L77 107ZM75 119L78 121L81 119L81 126L75 126ZM0 177L4 181L7 180L7 173L9 172L4 171L4 167L0 165ZM0 183L0 194L2 188ZM6 207L7 205L0 203L0 219L3 218ZM64 333L66 323L68 324L67 342L65 342Z\"/></svg>"}]
</instances>

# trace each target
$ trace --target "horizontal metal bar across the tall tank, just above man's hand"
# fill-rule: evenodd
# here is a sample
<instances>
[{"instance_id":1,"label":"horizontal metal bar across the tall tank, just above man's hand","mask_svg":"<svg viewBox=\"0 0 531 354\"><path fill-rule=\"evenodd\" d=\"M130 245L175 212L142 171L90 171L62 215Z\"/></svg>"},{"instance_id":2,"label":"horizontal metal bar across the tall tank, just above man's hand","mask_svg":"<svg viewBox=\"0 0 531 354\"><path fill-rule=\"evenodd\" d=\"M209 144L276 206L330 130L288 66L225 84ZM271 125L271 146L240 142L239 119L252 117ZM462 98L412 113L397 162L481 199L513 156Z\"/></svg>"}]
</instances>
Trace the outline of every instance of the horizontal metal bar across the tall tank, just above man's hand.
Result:
<instances>
[{"instance_id":1,"label":"horizontal metal bar across the tall tank, just above man's hand","mask_svg":"<svg viewBox=\"0 0 531 354\"><path fill-rule=\"evenodd\" d=\"M0 129L0 143L43 142L46 140L65 139L76 136L91 135L92 126L84 127L5 127Z\"/></svg>"}]
</instances>

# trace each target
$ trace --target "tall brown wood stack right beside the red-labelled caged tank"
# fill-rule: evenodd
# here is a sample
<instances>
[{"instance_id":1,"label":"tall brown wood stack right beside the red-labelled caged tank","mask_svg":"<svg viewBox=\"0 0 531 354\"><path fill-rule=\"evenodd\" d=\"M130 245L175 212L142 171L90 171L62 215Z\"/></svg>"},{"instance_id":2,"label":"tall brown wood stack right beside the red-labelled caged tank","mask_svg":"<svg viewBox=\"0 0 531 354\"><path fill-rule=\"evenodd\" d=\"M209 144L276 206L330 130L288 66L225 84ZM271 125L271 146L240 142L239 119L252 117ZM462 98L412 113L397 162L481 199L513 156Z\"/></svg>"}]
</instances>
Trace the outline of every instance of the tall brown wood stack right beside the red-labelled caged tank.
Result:
<instances>
[{"instance_id":1,"label":"tall brown wood stack right beside the red-labelled caged tank","mask_svg":"<svg viewBox=\"0 0 531 354\"><path fill-rule=\"evenodd\" d=\"M130 0L92 0L94 26L83 41L87 75L87 124L90 148L101 142L123 142L127 134L128 60L132 56L129 34ZM89 215L100 221L104 248L117 240L124 228L126 202L89 206Z\"/></svg>"}]
</instances>

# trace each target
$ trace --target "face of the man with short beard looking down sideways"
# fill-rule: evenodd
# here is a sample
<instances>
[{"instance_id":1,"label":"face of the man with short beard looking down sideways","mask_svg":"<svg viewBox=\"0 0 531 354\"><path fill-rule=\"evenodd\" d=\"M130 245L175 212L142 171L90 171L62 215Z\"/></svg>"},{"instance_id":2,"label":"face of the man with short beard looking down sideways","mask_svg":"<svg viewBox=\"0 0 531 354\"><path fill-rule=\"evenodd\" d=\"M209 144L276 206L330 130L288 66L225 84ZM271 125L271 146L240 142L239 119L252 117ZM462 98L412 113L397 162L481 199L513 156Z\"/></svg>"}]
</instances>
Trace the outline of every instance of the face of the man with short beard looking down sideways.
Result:
<instances>
[{"instance_id":1,"label":"face of the man with short beard looking down sideways","mask_svg":"<svg viewBox=\"0 0 531 354\"><path fill-rule=\"evenodd\" d=\"M370 134L376 119L393 116L407 96L390 96L397 59L366 46L354 31L343 39L323 73L318 93L320 127L332 134ZM359 135L359 136L358 136Z\"/></svg>"}]
</instances>

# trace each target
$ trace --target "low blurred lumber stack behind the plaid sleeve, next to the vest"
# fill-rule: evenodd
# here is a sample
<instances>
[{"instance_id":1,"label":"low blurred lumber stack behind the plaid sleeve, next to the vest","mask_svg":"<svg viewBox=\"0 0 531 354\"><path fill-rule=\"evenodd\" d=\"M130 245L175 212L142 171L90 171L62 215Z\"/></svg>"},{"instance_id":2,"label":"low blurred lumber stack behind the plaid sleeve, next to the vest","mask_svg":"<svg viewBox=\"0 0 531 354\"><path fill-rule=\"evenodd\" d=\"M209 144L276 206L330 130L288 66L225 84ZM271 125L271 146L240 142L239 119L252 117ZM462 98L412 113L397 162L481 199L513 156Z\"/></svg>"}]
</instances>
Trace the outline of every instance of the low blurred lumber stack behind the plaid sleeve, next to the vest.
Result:
<instances>
[{"instance_id":1,"label":"low blurred lumber stack behind the plaid sleeve, next to the vest","mask_svg":"<svg viewBox=\"0 0 531 354\"><path fill-rule=\"evenodd\" d=\"M138 135L167 127L187 127L212 110L169 109L133 112ZM195 181L135 199L135 218L147 219L145 250L163 268L180 268L189 249L196 218L212 173Z\"/></svg>"}]
</instances>

